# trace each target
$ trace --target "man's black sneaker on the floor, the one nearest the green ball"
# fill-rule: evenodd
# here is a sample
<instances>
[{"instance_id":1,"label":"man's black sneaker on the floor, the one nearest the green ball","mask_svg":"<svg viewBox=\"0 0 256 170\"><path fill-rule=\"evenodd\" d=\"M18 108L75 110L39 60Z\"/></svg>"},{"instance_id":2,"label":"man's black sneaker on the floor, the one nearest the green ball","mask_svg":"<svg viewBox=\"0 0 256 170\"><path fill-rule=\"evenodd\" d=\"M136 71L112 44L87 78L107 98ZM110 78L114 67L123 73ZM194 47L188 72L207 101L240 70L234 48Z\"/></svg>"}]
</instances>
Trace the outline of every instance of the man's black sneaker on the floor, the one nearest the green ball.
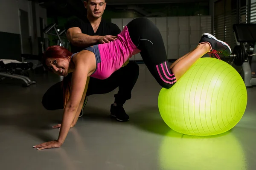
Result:
<instances>
[{"instance_id":1,"label":"man's black sneaker on the floor, the one nearest the green ball","mask_svg":"<svg viewBox=\"0 0 256 170\"><path fill-rule=\"evenodd\" d=\"M122 106L114 106L112 104L110 108L110 115L120 122L126 122L129 120L129 116L125 113L125 109Z\"/></svg>"}]
</instances>

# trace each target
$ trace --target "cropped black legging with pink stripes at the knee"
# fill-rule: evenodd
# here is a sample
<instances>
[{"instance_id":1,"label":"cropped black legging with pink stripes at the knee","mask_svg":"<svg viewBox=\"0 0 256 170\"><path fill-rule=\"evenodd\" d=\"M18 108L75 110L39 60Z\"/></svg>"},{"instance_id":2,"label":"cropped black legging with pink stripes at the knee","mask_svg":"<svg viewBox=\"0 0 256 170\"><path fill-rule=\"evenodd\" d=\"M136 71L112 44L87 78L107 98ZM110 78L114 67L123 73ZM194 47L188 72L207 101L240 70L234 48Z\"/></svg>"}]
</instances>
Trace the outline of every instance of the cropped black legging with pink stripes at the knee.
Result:
<instances>
[{"instance_id":1,"label":"cropped black legging with pink stripes at the knee","mask_svg":"<svg viewBox=\"0 0 256 170\"><path fill-rule=\"evenodd\" d=\"M147 18L137 18L128 23L127 28L150 73L163 88L171 88L176 78L170 70L163 38L157 26Z\"/></svg>"}]
</instances>

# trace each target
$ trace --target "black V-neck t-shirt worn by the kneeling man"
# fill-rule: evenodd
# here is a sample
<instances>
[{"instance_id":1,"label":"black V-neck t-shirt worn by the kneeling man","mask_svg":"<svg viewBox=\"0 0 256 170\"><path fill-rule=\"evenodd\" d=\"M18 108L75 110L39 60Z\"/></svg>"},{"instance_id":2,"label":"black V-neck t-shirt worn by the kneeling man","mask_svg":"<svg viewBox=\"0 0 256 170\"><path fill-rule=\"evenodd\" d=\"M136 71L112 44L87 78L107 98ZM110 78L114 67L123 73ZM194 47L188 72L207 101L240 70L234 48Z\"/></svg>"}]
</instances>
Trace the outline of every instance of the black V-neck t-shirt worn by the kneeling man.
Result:
<instances>
[{"instance_id":1,"label":"black V-neck t-shirt worn by the kneeling man","mask_svg":"<svg viewBox=\"0 0 256 170\"><path fill-rule=\"evenodd\" d=\"M87 35L99 35L99 36L104 36L104 35L117 35L121 32L121 30L116 26L116 24L107 22L105 20L101 20L99 24L99 28L97 29L96 33L93 31L93 27L91 26L89 20L87 17L84 20L81 20L79 18L71 19L67 22L66 24L66 30L72 27L79 27L82 31L83 34ZM93 45L93 44L92 44ZM84 48L87 48L86 46L84 47L77 47L72 44L70 44L71 47L71 52L76 53Z\"/></svg>"}]
</instances>

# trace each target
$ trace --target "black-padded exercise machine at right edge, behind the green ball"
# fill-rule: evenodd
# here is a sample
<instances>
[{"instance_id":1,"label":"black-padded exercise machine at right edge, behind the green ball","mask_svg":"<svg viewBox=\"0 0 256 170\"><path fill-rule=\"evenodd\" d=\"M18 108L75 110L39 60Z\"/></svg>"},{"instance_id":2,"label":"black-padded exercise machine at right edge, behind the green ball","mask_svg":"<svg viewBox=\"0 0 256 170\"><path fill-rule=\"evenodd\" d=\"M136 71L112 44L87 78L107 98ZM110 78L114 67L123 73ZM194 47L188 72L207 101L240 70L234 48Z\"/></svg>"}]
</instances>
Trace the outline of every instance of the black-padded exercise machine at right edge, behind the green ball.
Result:
<instances>
[{"instance_id":1,"label":"black-padded exercise machine at right edge, behind the green ball","mask_svg":"<svg viewBox=\"0 0 256 170\"><path fill-rule=\"evenodd\" d=\"M243 79L247 88L256 85L256 77L252 76L252 68L254 68L256 61L256 24L234 24L233 31L236 39L236 46L229 57L233 57L233 62L237 66L242 66ZM246 48L247 47L247 48ZM253 50L250 50L250 47ZM249 50L246 50L248 49ZM251 65L249 61L251 62ZM231 65L232 65L231 64Z\"/></svg>"}]
</instances>

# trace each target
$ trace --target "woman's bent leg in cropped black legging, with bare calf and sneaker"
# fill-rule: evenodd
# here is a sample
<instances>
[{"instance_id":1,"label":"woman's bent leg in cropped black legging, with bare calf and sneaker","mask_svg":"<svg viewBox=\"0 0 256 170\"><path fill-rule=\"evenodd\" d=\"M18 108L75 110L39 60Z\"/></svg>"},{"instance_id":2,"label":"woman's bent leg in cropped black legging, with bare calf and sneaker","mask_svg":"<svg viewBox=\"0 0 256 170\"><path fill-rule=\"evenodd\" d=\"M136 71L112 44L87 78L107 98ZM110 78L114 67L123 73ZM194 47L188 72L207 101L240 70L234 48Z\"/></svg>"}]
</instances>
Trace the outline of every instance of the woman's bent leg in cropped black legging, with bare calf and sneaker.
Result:
<instances>
[{"instance_id":1,"label":"woman's bent leg in cropped black legging, with bare calf and sneaker","mask_svg":"<svg viewBox=\"0 0 256 170\"><path fill-rule=\"evenodd\" d=\"M224 56L231 54L231 49L225 42L206 33L202 35L194 51L169 66L162 36L154 23L146 18L137 18L127 28L132 42L141 50L140 54L148 70L163 88L171 88L204 54L212 53L218 58L220 53Z\"/></svg>"}]
</instances>

